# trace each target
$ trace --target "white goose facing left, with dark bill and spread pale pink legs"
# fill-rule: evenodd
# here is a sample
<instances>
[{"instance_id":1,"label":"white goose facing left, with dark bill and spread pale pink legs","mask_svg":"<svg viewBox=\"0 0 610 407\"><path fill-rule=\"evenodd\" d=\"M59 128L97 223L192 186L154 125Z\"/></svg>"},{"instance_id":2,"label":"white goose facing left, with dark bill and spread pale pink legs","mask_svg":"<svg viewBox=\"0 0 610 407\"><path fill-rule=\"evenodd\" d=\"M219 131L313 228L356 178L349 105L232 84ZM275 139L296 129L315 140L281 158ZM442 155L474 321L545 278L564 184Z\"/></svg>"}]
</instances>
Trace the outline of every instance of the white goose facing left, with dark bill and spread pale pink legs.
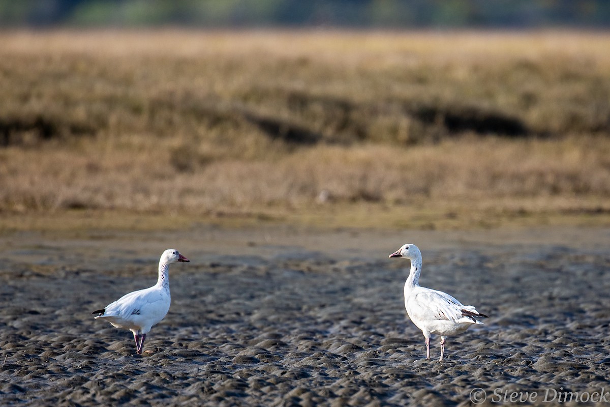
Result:
<instances>
[{"instance_id":1,"label":"white goose facing left, with dark bill and spread pale pink legs","mask_svg":"<svg viewBox=\"0 0 610 407\"><path fill-rule=\"evenodd\" d=\"M475 317L487 318L471 305L462 305L451 295L420 287L422 252L417 246L407 243L390 254L390 258L411 260L411 272L404 283L404 308L411 321L422 330L426 338L426 359L430 359L430 334L440 335L440 360L445 353L447 336L461 334L471 325L483 325Z\"/></svg>"}]
</instances>

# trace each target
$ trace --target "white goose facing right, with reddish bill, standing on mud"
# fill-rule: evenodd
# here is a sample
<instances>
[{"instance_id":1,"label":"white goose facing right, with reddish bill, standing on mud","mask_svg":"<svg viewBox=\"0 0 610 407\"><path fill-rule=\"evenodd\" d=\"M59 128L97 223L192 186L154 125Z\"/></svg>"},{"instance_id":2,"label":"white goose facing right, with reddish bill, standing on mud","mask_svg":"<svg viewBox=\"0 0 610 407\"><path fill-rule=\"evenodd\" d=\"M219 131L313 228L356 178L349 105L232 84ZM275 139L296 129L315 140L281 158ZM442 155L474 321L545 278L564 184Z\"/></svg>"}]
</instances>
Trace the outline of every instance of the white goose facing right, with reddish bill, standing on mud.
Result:
<instances>
[{"instance_id":1,"label":"white goose facing right, with reddish bill, standing on mud","mask_svg":"<svg viewBox=\"0 0 610 407\"><path fill-rule=\"evenodd\" d=\"M161 322L170 310L170 279L168 271L171 263L188 262L178 250L168 249L159 260L159 279L154 286L130 292L117 301L110 303L104 309L98 309L91 314L98 314L95 319L102 318L117 328L132 331L135 339L136 353L141 354L144 348L146 334L153 325Z\"/></svg>"}]
</instances>

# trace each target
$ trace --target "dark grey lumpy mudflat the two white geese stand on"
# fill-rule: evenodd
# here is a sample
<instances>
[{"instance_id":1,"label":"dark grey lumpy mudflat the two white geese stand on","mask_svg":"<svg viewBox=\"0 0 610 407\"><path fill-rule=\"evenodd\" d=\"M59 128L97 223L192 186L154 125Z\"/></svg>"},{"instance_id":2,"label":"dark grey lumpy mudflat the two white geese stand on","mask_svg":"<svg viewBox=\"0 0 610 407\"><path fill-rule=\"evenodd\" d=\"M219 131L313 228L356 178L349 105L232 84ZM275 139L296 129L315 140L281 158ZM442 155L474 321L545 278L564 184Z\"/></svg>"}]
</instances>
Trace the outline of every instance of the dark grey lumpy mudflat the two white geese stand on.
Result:
<instances>
[{"instance_id":1,"label":"dark grey lumpy mudflat the two white geese stand on","mask_svg":"<svg viewBox=\"0 0 610 407\"><path fill-rule=\"evenodd\" d=\"M387 259L406 242L423 251L422 285L490 315L448 340L444 362L423 359L406 317L409 262ZM450 406L475 387L483 405L494 391L540 404L547 389L610 391L610 229L196 226L0 245L0 405ZM152 285L170 247L192 262L171 267L170 313L138 356L129 331L90 312Z\"/></svg>"}]
</instances>

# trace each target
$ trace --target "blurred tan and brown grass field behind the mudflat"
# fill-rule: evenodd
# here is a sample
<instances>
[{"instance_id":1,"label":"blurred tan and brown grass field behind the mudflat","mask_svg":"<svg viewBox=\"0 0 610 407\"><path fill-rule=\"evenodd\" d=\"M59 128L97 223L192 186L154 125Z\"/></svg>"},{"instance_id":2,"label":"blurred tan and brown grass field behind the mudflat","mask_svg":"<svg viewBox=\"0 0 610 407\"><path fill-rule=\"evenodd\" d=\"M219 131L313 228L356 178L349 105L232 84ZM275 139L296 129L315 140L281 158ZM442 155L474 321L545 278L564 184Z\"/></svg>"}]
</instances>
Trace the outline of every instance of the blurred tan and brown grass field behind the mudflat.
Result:
<instances>
[{"instance_id":1,"label":"blurred tan and brown grass field behind the mudflat","mask_svg":"<svg viewBox=\"0 0 610 407\"><path fill-rule=\"evenodd\" d=\"M0 228L610 225L608 49L575 31L3 32Z\"/></svg>"}]
</instances>

